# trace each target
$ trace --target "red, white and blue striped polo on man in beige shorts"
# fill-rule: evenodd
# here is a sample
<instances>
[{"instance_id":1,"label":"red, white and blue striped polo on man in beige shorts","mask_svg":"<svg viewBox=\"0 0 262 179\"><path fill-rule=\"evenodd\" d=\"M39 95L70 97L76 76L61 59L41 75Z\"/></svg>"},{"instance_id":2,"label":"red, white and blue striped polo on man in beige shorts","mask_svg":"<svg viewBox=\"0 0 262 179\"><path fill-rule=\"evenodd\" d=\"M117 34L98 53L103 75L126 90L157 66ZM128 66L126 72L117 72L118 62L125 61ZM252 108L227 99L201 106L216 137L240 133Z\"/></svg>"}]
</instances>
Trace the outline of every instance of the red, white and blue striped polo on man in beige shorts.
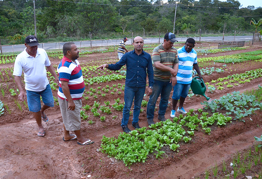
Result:
<instances>
[{"instance_id":1,"label":"red, white and blue striped polo on man in beige shorts","mask_svg":"<svg viewBox=\"0 0 262 179\"><path fill-rule=\"evenodd\" d=\"M67 81L72 99L81 99L85 90L85 83L78 60L76 59L74 63L67 57L63 57L57 67L57 73L59 75L59 89L57 95L63 100L66 99L62 91L61 81Z\"/></svg>"}]
</instances>

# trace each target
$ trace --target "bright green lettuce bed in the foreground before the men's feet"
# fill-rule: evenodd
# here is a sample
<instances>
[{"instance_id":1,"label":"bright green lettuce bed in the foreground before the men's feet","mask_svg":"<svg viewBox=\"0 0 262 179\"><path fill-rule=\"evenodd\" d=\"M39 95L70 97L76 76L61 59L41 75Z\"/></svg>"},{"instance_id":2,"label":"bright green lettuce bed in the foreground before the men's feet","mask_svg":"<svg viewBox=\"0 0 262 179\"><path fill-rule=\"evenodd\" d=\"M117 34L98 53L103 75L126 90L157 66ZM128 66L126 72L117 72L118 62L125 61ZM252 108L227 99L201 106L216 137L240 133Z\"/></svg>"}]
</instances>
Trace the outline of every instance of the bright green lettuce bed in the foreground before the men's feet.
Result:
<instances>
[{"instance_id":1,"label":"bright green lettuce bed in the foreground before the men's feet","mask_svg":"<svg viewBox=\"0 0 262 179\"><path fill-rule=\"evenodd\" d=\"M154 153L156 158L161 157L165 153L160 151L163 146L169 146L171 150L179 152L177 149L180 144L192 140L194 131L199 130L200 126L203 132L210 134L211 129L208 126L215 122L218 126L224 126L232 119L219 113L213 113L208 117L206 112L198 117L198 114L193 112L194 109L190 109L186 116L181 114L179 117L175 117L173 122L169 119L157 122L149 126L148 130L143 127L133 130L129 134L120 133L118 138L103 136L100 151L118 160L123 160L126 165L145 162L148 154L154 151L156 151ZM178 144L178 142L181 143Z\"/></svg>"}]
</instances>

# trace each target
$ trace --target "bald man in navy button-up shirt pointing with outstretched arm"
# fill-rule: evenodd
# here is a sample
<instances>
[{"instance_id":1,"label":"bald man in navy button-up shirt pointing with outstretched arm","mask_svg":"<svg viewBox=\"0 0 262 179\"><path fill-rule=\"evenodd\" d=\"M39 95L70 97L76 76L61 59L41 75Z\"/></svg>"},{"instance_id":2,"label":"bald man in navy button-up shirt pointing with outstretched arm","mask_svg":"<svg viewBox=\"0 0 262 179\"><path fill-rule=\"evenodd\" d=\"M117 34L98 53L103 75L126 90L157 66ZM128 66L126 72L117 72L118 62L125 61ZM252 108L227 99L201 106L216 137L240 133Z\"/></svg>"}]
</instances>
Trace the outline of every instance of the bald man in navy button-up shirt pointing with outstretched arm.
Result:
<instances>
[{"instance_id":1,"label":"bald man in navy button-up shirt pointing with outstretched arm","mask_svg":"<svg viewBox=\"0 0 262 179\"><path fill-rule=\"evenodd\" d=\"M135 129L139 129L138 116L141 109L141 102L143 100L145 90L146 90L146 73L148 74L149 87L147 91L147 96L152 94L153 91L153 66L151 55L143 50L144 40L142 37L135 37L133 39L134 50L125 53L121 60L116 64L103 64L97 69L104 70L108 68L109 70L119 70L123 65L126 65L126 78L125 78L125 106L123 109L123 118L121 122L121 127L124 132L129 133L128 129L128 119L129 112L134 100L134 111L133 111L133 121L132 126Z\"/></svg>"}]
</instances>

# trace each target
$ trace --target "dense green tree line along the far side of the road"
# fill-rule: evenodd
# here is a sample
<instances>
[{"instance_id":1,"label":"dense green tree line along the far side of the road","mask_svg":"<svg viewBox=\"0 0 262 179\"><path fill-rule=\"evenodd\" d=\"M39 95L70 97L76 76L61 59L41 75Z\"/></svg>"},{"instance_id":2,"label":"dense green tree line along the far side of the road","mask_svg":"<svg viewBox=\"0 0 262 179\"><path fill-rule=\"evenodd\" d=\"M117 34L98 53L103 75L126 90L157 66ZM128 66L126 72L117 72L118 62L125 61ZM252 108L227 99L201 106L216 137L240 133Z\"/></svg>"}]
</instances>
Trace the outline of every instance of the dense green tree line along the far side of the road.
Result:
<instances>
[{"instance_id":1,"label":"dense green tree line along the far side of the road","mask_svg":"<svg viewBox=\"0 0 262 179\"><path fill-rule=\"evenodd\" d=\"M70 1L70 2L69 2ZM177 4L176 4L177 3ZM227 0L36 0L38 38L130 32L253 32L262 8ZM0 36L34 34L33 0L0 0ZM244 17L245 16L245 17Z\"/></svg>"}]
</instances>

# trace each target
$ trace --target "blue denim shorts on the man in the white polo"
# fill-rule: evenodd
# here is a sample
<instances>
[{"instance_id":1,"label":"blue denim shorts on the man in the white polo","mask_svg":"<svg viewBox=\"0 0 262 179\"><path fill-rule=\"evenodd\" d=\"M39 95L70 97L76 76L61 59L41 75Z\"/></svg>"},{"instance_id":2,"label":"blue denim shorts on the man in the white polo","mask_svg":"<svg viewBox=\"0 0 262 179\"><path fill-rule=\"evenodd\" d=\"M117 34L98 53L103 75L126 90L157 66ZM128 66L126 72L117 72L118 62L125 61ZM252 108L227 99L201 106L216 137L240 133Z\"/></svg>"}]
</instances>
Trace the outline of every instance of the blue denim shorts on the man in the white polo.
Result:
<instances>
[{"instance_id":1,"label":"blue denim shorts on the man in the white polo","mask_svg":"<svg viewBox=\"0 0 262 179\"><path fill-rule=\"evenodd\" d=\"M50 88L50 84L48 84L43 91L29 91L26 90L26 98L29 111L38 112L41 110L41 101L40 96L42 96L43 103L46 106L54 107L54 97Z\"/></svg>"}]
</instances>

